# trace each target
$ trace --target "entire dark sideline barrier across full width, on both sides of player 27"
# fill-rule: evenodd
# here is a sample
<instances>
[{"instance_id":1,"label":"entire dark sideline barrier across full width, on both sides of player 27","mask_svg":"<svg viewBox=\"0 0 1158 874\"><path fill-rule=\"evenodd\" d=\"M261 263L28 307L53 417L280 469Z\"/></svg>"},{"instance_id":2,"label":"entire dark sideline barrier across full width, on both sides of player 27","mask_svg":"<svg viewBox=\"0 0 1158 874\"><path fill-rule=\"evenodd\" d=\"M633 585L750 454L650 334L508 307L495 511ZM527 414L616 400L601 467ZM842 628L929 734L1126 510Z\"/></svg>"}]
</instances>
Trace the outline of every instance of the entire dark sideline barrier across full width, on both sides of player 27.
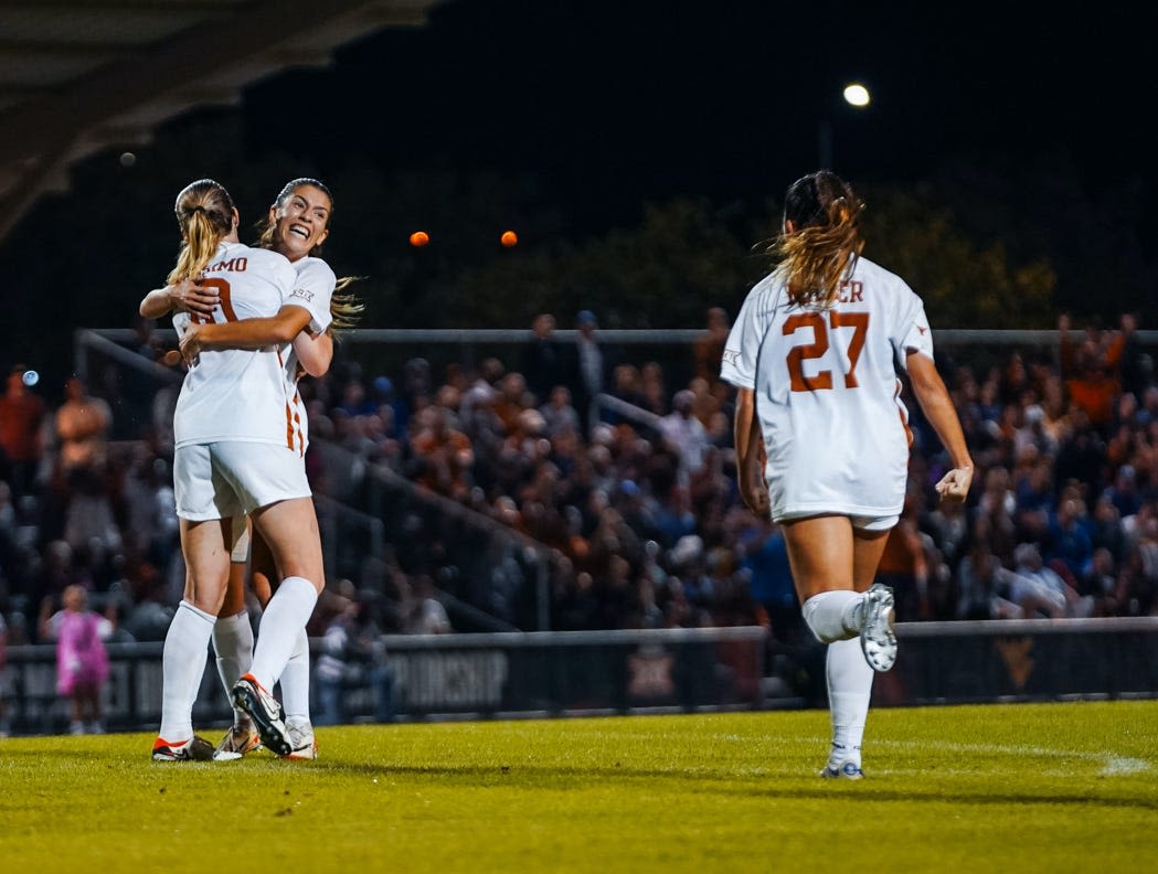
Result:
<instances>
[{"instance_id":1,"label":"entire dark sideline barrier across full width, on both sides of player 27","mask_svg":"<svg viewBox=\"0 0 1158 874\"><path fill-rule=\"evenodd\" d=\"M877 676L874 706L1158 697L1158 617L902 623L896 632L901 654ZM350 721L384 711L418 720L824 706L800 689L823 689L822 647L779 652L768 671L776 644L762 627L386 636L381 645L390 699L364 671L345 688ZM109 646L109 729L156 727L161 647ZM15 733L66 729L54 647L9 647L7 674ZM315 678L315 702L317 689ZM229 719L206 653L193 720Z\"/></svg>"}]
</instances>

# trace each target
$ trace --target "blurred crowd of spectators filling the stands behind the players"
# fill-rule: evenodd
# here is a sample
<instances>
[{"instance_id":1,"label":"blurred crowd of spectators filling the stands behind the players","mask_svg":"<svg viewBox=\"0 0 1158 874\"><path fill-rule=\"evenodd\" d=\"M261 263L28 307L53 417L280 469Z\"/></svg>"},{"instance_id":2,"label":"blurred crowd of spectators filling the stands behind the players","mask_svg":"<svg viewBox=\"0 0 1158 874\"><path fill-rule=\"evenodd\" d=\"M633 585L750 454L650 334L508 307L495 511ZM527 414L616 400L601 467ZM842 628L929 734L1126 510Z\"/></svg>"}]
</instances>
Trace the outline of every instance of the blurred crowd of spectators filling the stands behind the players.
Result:
<instances>
[{"instance_id":1,"label":"blurred crowd of spectators filling the stands behind the players","mask_svg":"<svg viewBox=\"0 0 1158 874\"><path fill-rule=\"evenodd\" d=\"M140 351L160 360L166 350L148 328ZM733 390L718 377L727 314L709 311L687 353L690 379L677 384L670 368L602 344L588 311L576 341L556 339L554 328L541 316L525 346L477 367L435 374L412 358L401 373L369 376L339 357L325 379L303 381L315 492L357 500L365 472L381 468L542 544L554 556L556 630L764 624L783 645L806 642L783 538L736 492ZM962 507L937 506L945 458L910 403L909 497L880 568L900 619L1158 609L1150 358L1130 316L1115 330L1075 332L1064 317L1058 328L1043 360L1006 351L977 365L938 350L976 487ZM152 423L130 433L118 428L127 402L115 380L74 377L49 410L23 373L12 368L0 397L8 644L41 641L36 617L59 609L71 585L89 593L112 640L163 639L184 580L170 471L175 387L154 392ZM331 587L313 633L347 612L346 595L365 602L362 622L379 631L422 631L432 588L527 627L518 607L526 573L504 574L504 554L488 556L486 573L448 570L437 507L408 516L374 585Z\"/></svg>"}]
</instances>

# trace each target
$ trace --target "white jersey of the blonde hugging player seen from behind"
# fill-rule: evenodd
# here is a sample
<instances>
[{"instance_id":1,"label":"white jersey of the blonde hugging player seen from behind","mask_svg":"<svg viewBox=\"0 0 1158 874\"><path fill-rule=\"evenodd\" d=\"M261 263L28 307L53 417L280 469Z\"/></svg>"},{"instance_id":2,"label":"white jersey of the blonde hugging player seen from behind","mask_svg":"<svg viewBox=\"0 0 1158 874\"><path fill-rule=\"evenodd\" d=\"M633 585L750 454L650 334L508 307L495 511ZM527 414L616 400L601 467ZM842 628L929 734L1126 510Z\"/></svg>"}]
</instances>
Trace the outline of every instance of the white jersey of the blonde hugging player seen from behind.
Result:
<instances>
[{"instance_id":1,"label":"white jersey of the blonde hugging player seen from behind","mask_svg":"<svg viewBox=\"0 0 1158 874\"><path fill-rule=\"evenodd\" d=\"M293 266L277 252L221 243L199 281L221 295L213 320L232 322L274 316L283 304L300 303L292 298L295 279ZM181 385L175 445L241 441L296 448L284 358L276 347L203 351Z\"/></svg>"}]
</instances>

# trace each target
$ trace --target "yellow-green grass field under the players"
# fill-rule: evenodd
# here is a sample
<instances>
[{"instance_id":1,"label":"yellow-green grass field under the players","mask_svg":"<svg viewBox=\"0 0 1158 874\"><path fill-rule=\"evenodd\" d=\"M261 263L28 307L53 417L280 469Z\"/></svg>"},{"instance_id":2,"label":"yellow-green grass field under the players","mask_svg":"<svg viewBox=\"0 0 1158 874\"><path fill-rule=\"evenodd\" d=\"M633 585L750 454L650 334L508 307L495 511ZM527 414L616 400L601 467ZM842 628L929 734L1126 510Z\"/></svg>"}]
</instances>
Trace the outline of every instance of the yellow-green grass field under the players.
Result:
<instances>
[{"instance_id":1,"label":"yellow-green grass field under the players","mask_svg":"<svg viewBox=\"0 0 1158 874\"><path fill-rule=\"evenodd\" d=\"M823 711L328 728L316 762L152 741L0 740L0 868L1158 868L1158 702L873 711L859 783L816 778Z\"/></svg>"}]
</instances>

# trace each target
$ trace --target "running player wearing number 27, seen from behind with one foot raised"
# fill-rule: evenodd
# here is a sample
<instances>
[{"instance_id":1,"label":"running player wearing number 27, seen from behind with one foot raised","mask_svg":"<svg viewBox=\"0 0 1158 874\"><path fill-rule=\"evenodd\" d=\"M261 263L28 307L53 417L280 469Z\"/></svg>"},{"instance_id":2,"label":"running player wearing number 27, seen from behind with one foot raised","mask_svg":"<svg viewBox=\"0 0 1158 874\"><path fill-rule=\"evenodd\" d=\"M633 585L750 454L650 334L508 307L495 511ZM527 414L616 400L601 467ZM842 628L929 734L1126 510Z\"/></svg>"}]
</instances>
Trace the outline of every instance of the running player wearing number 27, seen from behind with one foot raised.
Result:
<instances>
[{"instance_id":1,"label":"running player wearing number 27, seen from behind with one foot raised","mask_svg":"<svg viewBox=\"0 0 1158 874\"><path fill-rule=\"evenodd\" d=\"M860 210L827 170L789 188L772 249L780 262L748 293L720 366L739 389L741 495L783 527L804 619L828 645L833 742L820 776L843 779L864 776L873 671L896 659L893 593L873 576L908 477L897 363L953 465L937 492L965 500L973 479L924 304L860 257Z\"/></svg>"}]
</instances>

